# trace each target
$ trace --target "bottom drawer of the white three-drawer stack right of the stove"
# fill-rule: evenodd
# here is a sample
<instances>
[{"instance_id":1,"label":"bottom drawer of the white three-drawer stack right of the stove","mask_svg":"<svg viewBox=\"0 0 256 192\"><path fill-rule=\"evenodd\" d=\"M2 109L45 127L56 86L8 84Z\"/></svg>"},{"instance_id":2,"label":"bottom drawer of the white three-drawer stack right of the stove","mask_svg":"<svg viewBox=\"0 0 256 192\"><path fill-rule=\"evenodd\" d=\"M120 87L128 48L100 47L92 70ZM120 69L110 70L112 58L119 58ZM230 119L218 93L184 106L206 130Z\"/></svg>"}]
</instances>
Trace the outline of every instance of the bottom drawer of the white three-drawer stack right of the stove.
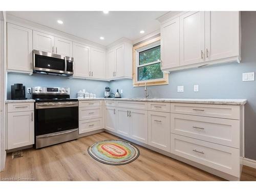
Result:
<instances>
[{"instance_id":1,"label":"bottom drawer of the white three-drawer stack right of the stove","mask_svg":"<svg viewBox=\"0 0 256 192\"><path fill-rule=\"evenodd\" d=\"M102 118L79 121L79 134L102 129Z\"/></svg>"}]
</instances>

